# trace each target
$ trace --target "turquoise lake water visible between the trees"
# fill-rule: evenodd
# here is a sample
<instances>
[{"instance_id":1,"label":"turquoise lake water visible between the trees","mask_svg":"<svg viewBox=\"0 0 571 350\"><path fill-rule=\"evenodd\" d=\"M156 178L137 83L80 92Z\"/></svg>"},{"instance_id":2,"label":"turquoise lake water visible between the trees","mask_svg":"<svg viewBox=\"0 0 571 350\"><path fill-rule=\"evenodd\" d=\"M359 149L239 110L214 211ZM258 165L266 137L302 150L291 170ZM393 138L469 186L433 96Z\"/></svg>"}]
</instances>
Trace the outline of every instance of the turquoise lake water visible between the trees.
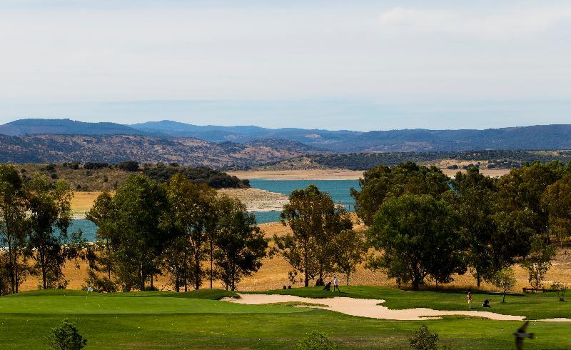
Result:
<instances>
[{"instance_id":1,"label":"turquoise lake water visible between the trees","mask_svg":"<svg viewBox=\"0 0 571 350\"><path fill-rule=\"evenodd\" d=\"M349 190L351 187L358 188L357 180L250 180L250 185L255 189L265 189L266 191L277 192L285 195L291 194L296 189L305 189L310 184L318 186L320 191L328 192L334 201L345 206L349 211L355 208L355 201L351 197ZM258 224L279 221L279 211L256 212ZM86 219L74 220L69 227L69 232L81 229L87 241L94 241L97 226Z\"/></svg>"}]
</instances>

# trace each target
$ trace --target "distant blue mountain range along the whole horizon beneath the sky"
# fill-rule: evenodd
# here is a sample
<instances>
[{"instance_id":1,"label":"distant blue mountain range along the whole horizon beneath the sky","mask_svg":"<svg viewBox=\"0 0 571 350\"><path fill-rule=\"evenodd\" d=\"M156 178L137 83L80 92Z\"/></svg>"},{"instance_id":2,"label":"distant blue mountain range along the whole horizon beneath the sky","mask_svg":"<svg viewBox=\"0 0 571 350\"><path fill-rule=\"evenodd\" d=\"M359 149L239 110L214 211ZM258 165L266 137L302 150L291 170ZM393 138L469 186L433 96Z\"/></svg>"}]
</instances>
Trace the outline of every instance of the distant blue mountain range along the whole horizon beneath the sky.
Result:
<instances>
[{"instance_id":1,"label":"distant blue mountain range along the whole horizon beneath the sky","mask_svg":"<svg viewBox=\"0 0 571 350\"><path fill-rule=\"evenodd\" d=\"M213 144L257 142L281 149L287 141L311 151L335 153L402 151L470 151L483 149L571 149L571 124L501 129L348 131L267 129L260 126L197 126L178 121L141 124L86 123L70 119L20 119L0 126L0 134L138 135L160 139L192 138ZM298 148L303 148L298 146Z\"/></svg>"}]
</instances>

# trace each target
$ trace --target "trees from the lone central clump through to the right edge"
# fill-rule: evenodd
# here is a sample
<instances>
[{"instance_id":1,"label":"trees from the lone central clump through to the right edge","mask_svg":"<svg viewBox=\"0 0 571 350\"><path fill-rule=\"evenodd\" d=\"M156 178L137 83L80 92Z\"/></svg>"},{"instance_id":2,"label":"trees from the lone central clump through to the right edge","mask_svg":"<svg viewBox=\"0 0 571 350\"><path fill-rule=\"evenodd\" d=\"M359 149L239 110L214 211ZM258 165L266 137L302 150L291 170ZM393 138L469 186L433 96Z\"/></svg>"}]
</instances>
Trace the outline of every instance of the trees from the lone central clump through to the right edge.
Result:
<instances>
[{"instance_id":1,"label":"trees from the lone central clump through to the right edge","mask_svg":"<svg viewBox=\"0 0 571 350\"><path fill-rule=\"evenodd\" d=\"M351 194L368 226L364 235L317 187L291 194L281 221L292 233L276 235L272 251L292 266L291 281L319 285L324 276L343 274L348 282L366 261L413 289L467 272L478 287L482 281L505 287L514 280L509 267L520 264L540 289L555 245L571 236L571 164L558 161L528 163L501 178L476 167L450 179L435 166L377 166Z\"/></svg>"}]
</instances>

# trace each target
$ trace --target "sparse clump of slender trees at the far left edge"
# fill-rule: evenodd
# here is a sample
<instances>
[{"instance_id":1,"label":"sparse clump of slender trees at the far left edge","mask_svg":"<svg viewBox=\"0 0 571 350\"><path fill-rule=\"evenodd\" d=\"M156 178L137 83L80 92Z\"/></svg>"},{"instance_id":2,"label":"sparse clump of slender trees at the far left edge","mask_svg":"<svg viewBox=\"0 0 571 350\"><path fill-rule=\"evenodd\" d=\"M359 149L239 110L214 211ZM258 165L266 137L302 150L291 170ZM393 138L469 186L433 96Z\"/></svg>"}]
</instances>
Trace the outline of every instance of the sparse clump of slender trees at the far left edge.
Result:
<instances>
[{"instance_id":1,"label":"sparse clump of slender trees at the far left edge","mask_svg":"<svg viewBox=\"0 0 571 350\"><path fill-rule=\"evenodd\" d=\"M0 294L17 293L29 275L41 288L65 288L61 269L84 244L81 231L68 233L72 196L65 181L24 182L14 166L0 165Z\"/></svg>"}]
</instances>

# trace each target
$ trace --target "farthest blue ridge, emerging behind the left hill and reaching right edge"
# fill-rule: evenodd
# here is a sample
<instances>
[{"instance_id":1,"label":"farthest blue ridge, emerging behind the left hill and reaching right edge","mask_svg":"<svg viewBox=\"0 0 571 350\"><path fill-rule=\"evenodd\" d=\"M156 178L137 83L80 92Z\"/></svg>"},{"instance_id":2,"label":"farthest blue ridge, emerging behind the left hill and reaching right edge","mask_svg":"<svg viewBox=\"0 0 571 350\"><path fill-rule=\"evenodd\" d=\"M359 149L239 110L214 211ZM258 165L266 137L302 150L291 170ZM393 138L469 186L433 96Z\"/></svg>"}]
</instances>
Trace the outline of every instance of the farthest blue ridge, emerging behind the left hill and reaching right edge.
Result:
<instances>
[{"instance_id":1,"label":"farthest blue ridge, emerging behind the left hill and reaching right edge","mask_svg":"<svg viewBox=\"0 0 571 350\"><path fill-rule=\"evenodd\" d=\"M153 121L131 126L141 132L161 132L171 136L196 137L214 142L287 139L340 153L571 149L571 125L567 124L485 130L404 129L368 132L266 129L258 126L196 126L174 121Z\"/></svg>"}]
</instances>

